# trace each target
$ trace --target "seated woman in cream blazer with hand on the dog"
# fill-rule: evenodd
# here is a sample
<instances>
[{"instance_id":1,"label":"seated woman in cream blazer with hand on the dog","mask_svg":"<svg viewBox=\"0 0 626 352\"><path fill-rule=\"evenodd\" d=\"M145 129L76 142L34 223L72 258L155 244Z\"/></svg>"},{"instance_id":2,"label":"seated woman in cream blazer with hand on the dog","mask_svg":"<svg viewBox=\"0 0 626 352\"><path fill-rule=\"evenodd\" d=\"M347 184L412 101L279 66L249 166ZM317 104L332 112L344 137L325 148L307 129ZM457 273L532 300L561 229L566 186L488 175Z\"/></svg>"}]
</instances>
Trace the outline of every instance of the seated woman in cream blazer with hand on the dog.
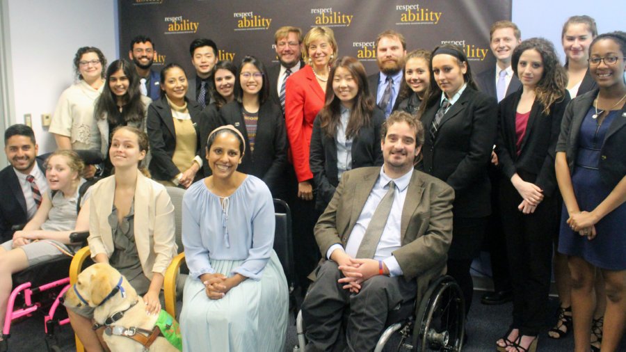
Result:
<instances>
[{"instance_id":1,"label":"seated woman in cream blazer with hand on the dog","mask_svg":"<svg viewBox=\"0 0 626 352\"><path fill-rule=\"evenodd\" d=\"M175 219L165 187L140 167L147 152L148 139L140 129L113 131L109 158L115 174L90 189L88 241L93 260L118 269L143 296L146 312L159 314L163 274L177 253ZM97 335L104 329L91 328L93 308L67 311L86 350L104 351Z\"/></svg>"}]
</instances>

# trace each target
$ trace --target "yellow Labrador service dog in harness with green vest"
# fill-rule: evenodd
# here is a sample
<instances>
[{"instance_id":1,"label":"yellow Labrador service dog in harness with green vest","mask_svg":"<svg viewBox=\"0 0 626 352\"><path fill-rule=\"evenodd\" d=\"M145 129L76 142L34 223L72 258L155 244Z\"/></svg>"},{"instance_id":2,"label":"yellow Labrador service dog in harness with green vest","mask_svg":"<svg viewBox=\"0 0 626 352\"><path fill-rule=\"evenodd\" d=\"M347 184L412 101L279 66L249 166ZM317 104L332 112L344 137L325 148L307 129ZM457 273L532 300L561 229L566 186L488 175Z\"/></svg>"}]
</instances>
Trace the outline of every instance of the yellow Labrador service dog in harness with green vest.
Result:
<instances>
[{"instance_id":1,"label":"yellow Labrador service dog in harness with green vest","mask_svg":"<svg viewBox=\"0 0 626 352\"><path fill-rule=\"evenodd\" d=\"M93 264L80 273L64 301L70 308L94 307L96 327L104 326L104 342L113 352L176 352L182 348L178 323L164 310L158 316L148 314L143 299L109 264Z\"/></svg>"}]
</instances>

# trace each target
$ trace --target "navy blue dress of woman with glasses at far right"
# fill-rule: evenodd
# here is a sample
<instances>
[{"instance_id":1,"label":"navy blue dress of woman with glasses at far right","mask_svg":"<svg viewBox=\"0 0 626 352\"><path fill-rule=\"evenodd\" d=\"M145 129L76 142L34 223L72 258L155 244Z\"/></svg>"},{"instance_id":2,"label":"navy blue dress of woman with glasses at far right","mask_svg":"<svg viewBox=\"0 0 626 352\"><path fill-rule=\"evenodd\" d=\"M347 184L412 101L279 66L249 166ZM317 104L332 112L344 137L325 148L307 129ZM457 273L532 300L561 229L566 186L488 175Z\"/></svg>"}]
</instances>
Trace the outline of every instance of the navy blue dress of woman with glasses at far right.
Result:
<instances>
[{"instance_id":1,"label":"navy blue dress of woman with glasses at far right","mask_svg":"<svg viewBox=\"0 0 626 352\"><path fill-rule=\"evenodd\" d=\"M572 175L574 193L581 211L592 211L613 191L611 187L602 183L598 161L607 130L611 122L621 115L620 111L611 111L604 118L602 125L598 126L597 120L592 117L594 113L595 109L592 106L582 122L576 165ZM601 269L626 269L626 203L595 224L597 236L591 241L570 229L567 220L568 211L563 205L559 236L560 253L582 257Z\"/></svg>"}]
</instances>

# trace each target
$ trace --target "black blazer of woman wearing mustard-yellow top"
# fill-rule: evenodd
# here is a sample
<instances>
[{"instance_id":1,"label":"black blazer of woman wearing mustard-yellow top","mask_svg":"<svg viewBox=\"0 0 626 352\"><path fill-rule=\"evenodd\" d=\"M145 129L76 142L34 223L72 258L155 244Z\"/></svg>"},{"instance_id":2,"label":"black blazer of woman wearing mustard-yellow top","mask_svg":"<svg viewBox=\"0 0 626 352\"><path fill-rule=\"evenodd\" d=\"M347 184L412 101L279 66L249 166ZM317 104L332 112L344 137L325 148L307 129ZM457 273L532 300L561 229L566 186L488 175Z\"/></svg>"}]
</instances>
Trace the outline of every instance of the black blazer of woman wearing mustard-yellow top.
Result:
<instances>
[{"instance_id":1,"label":"black blazer of woman wearing mustard-yellow top","mask_svg":"<svg viewBox=\"0 0 626 352\"><path fill-rule=\"evenodd\" d=\"M202 107L197 102L185 98L187 109L191 115L191 122L195 126L195 134L198 136L198 150L196 155L200 155L200 133L199 122ZM170 181L180 173L180 170L174 165L172 156L176 147L176 131L174 129L174 120L172 109L168 104L168 99L163 96L161 99L152 102L148 107L148 115L146 119L146 128L148 138L150 140L150 151L152 159L150 159L150 174L153 179L160 181ZM196 174L196 179L202 177L202 173Z\"/></svg>"}]
</instances>

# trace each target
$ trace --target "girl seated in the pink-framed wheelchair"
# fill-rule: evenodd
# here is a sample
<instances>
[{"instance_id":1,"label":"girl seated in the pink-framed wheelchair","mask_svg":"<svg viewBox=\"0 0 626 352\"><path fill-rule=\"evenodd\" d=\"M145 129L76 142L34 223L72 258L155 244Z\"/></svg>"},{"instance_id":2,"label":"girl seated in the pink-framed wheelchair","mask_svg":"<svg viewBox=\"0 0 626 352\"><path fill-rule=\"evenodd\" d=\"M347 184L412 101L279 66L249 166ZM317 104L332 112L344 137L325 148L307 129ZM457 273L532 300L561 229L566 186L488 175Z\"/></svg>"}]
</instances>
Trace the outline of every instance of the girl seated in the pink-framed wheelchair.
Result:
<instances>
[{"instance_id":1,"label":"girl seated in the pink-framed wheelchair","mask_svg":"<svg viewBox=\"0 0 626 352\"><path fill-rule=\"evenodd\" d=\"M76 152L58 150L46 165L49 191L42 196L37 213L24 230L15 232L12 240L0 245L0 329L13 289L11 275L54 257L72 255L81 243L72 244L70 233L89 229L88 205L77 215L79 189L85 182L80 176L83 161Z\"/></svg>"}]
</instances>

